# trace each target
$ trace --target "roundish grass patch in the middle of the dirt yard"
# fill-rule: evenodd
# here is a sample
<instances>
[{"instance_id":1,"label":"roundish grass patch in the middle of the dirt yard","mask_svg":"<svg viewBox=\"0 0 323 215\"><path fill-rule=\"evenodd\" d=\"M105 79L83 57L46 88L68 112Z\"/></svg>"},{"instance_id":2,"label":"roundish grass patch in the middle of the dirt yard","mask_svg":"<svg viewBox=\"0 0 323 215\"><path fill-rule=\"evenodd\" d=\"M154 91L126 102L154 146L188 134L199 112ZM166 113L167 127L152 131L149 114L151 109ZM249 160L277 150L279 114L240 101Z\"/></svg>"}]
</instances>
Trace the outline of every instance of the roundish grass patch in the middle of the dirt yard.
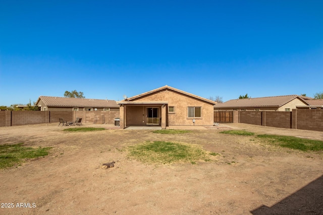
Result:
<instances>
[{"instance_id":1,"label":"roundish grass patch in the middle of the dirt yard","mask_svg":"<svg viewBox=\"0 0 323 215\"><path fill-rule=\"evenodd\" d=\"M211 161L209 152L201 146L165 141L146 141L143 144L129 147L129 156L148 164L172 164L199 160Z\"/></svg>"}]
</instances>

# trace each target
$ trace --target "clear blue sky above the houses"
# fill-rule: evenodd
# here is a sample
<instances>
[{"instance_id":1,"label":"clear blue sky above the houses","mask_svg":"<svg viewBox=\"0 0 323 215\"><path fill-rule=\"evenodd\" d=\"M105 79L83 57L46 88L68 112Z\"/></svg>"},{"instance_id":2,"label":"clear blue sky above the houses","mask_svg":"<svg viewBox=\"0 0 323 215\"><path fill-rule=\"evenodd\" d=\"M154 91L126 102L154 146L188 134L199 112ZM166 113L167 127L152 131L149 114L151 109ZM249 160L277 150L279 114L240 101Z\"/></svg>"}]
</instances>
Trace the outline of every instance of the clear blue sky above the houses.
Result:
<instances>
[{"instance_id":1,"label":"clear blue sky above the houses","mask_svg":"<svg viewBox=\"0 0 323 215\"><path fill-rule=\"evenodd\" d=\"M0 6L0 105L169 85L224 101L323 91L323 1L14 1Z\"/></svg>"}]
</instances>

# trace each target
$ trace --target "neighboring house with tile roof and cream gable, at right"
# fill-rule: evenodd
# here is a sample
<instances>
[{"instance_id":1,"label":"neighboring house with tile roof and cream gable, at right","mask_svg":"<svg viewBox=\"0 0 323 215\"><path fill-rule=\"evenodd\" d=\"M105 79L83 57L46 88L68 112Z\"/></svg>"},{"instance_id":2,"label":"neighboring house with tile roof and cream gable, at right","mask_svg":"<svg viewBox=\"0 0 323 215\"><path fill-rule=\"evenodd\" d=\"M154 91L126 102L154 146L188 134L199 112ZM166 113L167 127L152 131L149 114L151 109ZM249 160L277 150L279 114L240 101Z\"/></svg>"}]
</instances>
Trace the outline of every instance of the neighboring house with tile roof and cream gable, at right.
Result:
<instances>
[{"instance_id":1,"label":"neighboring house with tile roof and cream gable, at right","mask_svg":"<svg viewBox=\"0 0 323 215\"><path fill-rule=\"evenodd\" d=\"M296 106L309 105L308 97L297 95L233 99L214 105L214 110L292 111Z\"/></svg>"}]
</instances>

